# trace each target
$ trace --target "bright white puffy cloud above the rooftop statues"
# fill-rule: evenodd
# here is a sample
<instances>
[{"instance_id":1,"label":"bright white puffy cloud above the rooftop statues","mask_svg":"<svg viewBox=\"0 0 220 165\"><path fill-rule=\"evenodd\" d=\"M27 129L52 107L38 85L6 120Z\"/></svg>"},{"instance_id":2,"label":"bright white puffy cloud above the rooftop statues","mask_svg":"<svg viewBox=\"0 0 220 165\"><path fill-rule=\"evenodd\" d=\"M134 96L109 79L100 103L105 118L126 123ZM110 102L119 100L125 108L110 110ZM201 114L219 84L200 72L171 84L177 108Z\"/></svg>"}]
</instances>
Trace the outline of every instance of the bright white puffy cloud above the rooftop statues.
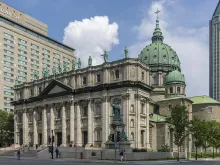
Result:
<instances>
[{"instance_id":1,"label":"bright white puffy cloud above the rooftop statues","mask_svg":"<svg viewBox=\"0 0 220 165\"><path fill-rule=\"evenodd\" d=\"M64 30L63 42L76 49L76 56L83 66L88 65L88 57L92 56L93 65L103 62L104 50L110 51L119 44L118 25L109 23L107 16L95 16L82 21L70 22Z\"/></svg>"}]
</instances>

